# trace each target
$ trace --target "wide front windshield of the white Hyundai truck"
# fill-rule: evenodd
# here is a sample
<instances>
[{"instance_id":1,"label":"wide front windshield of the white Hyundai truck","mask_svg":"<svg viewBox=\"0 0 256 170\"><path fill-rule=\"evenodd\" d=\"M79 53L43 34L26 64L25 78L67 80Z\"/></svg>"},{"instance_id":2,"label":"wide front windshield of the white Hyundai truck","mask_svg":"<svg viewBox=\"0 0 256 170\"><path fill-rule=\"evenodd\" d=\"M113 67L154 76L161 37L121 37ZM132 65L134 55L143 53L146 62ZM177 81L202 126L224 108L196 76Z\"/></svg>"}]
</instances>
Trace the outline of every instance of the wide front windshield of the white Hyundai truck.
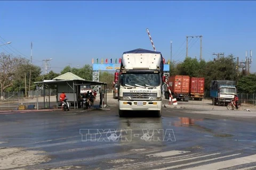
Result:
<instances>
[{"instance_id":1,"label":"wide front windshield of the white Hyundai truck","mask_svg":"<svg viewBox=\"0 0 256 170\"><path fill-rule=\"evenodd\" d=\"M161 83L161 78L159 73L124 73L121 74L120 83L122 86L129 84L135 86L139 84L140 86L159 86Z\"/></svg>"}]
</instances>

